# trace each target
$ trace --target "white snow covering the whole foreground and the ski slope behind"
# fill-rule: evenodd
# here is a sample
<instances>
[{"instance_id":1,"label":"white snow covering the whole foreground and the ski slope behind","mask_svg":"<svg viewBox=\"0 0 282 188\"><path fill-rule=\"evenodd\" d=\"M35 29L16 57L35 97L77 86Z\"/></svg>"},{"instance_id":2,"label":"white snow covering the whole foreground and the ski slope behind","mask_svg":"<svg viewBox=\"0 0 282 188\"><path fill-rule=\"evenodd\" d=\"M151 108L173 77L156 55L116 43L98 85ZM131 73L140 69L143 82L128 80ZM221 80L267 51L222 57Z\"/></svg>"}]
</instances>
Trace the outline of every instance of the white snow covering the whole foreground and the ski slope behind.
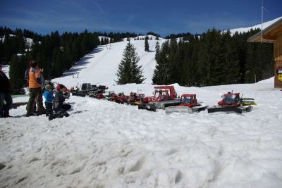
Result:
<instances>
[{"instance_id":1,"label":"white snow covering the whole foreground and the ski slope behind","mask_svg":"<svg viewBox=\"0 0 282 188\"><path fill-rule=\"evenodd\" d=\"M114 82L126 41L98 46L53 81L152 96L157 41L149 40L149 52L144 40L130 42L140 56L144 84ZM282 92L273 89L274 78L201 88L173 85L178 95L197 94L209 106L232 90L258 105L242 115L166 115L71 96L70 117L51 121L44 115L24 117L26 106L20 106L10 111L13 118L0 121L1 187L282 187Z\"/></svg>"}]
</instances>

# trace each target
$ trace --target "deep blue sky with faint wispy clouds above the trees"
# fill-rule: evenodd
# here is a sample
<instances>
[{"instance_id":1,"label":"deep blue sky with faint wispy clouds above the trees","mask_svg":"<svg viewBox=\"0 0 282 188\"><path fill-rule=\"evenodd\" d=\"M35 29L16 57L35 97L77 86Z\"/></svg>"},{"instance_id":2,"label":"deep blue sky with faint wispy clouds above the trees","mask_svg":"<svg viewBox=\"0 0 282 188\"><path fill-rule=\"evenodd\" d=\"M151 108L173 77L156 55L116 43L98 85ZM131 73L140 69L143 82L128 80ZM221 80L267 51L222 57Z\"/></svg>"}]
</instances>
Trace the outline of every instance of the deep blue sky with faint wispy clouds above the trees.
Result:
<instances>
[{"instance_id":1,"label":"deep blue sky with faint wispy clouds above the trees","mask_svg":"<svg viewBox=\"0 0 282 188\"><path fill-rule=\"evenodd\" d=\"M0 26L49 34L89 31L205 32L257 25L262 0L0 0ZM264 20L282 16L282 0L264 0Z\"/></svg>"}]
</instances>

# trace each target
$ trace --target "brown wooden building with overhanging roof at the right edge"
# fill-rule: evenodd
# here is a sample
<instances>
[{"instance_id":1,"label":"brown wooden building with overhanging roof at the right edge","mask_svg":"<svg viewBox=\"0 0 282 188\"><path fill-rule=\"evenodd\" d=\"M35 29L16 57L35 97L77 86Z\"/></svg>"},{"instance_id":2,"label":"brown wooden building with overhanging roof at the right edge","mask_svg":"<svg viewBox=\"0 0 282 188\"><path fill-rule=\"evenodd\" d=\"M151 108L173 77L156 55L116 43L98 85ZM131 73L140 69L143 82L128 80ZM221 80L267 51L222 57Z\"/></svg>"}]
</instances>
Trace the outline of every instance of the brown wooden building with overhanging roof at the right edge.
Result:
<instances>
[{"instance_id":1,"label":"brown wooden building with overhanging roof at the right edge","mask_svg":"<svg viewBox=\"0 0 282 188\"><path fill-rule=\"evenodd\" d=\"M274 87L282 88L282 18L247 39L247 42L274 43Z\"/></svg>"}]
</instances>

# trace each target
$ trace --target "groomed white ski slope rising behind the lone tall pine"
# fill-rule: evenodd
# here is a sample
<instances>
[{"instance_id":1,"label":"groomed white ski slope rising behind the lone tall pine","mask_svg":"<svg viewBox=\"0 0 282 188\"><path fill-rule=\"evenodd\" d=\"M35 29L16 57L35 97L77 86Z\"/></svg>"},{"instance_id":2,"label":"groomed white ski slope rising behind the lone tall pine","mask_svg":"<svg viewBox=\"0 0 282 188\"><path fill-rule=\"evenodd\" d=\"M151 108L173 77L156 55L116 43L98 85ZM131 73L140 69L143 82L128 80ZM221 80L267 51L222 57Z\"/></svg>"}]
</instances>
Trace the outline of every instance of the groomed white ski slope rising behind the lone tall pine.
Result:
<instances>
[{"instance_id":1,"label":"groomed white ski slope rising behind the lone tall pine","mask_svg":"<svg viewBox=\"0 0 282 188\"><path fill-rule=\"evenodd\" d=\"M145 37L145 36L139 36ZM159 38L155 40L149 40L149 51L145 51L145 40L130 39L135 48L138 56L140 56L139 65L142 65L143 75L146 78L144 83L151 84L154 68L156 66L155 46L159 42L160 46L165 39ZM137 38L137 37L136 37ZM124 39L123 42L116 42L103 46L98 46L90 54L80 59L76 65L68 72L64 73L63 77L54 79L54 82L61 82L66 86L71 87L74 85L80 86L82 83L92 84L116 84L116 73L118 71L118 64L123 58L123 50L125 49L128 41Z\"/></svg>"}]
</instances>

